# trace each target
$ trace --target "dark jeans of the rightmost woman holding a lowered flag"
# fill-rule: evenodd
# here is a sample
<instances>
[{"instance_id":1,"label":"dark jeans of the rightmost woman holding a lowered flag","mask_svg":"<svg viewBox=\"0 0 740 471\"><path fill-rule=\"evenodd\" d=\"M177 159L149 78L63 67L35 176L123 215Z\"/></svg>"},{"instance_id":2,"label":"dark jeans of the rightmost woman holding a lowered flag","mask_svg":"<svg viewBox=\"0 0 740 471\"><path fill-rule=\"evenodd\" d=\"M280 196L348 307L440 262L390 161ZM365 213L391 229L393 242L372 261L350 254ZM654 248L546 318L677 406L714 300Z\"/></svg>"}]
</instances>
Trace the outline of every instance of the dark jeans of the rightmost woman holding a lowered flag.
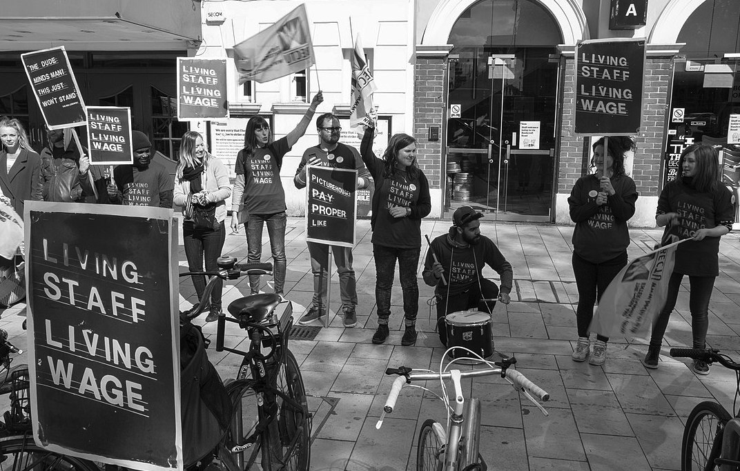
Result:
<instances>
[{"instance_id":1,"label":"dark jeans of the rightmost woman holding a lowered flag","mask_svg":"<svg viewBox=\"0 0 740 471\"><path fill-rule=\"evenodd\" d=\"M665 306L653 323L653 333L650 335L650 346L660 347L668 327L668 319L673 308L676 307L676 298L679 297L679 288L683 274L673 273L668 280L668 293ZM693 335L693 348L704 348L707 340L707 329L709 328L709 300L714 289L716 277L692 277L689 276L689 311L691 311L691 333Z\"/></svg>"}]
</instances>

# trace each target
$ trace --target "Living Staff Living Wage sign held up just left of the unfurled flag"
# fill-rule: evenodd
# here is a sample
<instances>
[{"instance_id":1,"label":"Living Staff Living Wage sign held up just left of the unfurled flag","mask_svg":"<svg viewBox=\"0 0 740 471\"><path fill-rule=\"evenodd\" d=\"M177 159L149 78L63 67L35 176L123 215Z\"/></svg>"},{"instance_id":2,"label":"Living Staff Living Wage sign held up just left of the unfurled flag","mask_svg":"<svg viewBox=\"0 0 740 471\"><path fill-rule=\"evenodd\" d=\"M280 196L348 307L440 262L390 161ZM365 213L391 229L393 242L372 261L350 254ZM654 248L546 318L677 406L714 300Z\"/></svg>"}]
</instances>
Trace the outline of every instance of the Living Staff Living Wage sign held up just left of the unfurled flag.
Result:
<instances>
[{"instance_id":1,"label":"Living Staff Living Wage sign held up just left of the unfurled flag","mask_svg":"<svg viewBox=\"0 0 740 471\"><path fill-rule=\"evenodd\" d=\"M226 59L178 57L178 120L229 118Z\"/></svg>"}]
</instances>

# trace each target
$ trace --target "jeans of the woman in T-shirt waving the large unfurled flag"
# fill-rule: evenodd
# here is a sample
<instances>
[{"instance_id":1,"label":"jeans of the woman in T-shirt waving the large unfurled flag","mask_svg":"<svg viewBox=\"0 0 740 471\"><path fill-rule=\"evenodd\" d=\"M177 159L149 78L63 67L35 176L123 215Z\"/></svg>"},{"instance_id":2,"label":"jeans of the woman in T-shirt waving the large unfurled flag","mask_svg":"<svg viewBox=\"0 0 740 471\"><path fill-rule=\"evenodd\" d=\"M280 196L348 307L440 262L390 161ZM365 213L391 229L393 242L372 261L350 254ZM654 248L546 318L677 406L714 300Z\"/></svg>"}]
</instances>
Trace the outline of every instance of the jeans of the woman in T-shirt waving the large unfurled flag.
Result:
<instances>
[{"instance_id":1,"label":"jeans of the woman in T-shirt waving the large unfurled flag","mask_svg":"<svg viewBox=\"0 0 740 471\"><path fill-rule=\"evenodd\" d=\"M249 214L244 223L246 231L247 262L259 262L262 258L262 228L267 223L267 234L270 237L272 250L272 276L275 280L275 293L283 294L285 286L285 211L275 214ZM260 291L260 275L249 275L249 289L252 293Z\"/></svg>"}]
</instances>

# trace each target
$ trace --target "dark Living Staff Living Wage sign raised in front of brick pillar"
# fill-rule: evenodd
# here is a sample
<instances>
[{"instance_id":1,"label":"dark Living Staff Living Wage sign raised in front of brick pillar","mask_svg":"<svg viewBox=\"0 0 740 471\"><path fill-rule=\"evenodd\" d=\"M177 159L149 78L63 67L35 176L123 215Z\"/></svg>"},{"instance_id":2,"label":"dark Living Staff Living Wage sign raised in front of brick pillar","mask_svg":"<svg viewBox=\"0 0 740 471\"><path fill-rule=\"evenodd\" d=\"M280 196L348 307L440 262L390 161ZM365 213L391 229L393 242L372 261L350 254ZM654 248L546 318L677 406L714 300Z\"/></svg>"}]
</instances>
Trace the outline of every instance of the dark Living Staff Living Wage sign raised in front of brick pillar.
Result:
<instances>
[{"instance_id":1,"label":"dark Living Staff Living Wage sign raised in front of brick pillar","mask_svg":"<svg viewBox=\"0 0 740 471\"><path fill-rule=\"evenodd\" d=\"M644 70L645 38L579 42L576 134L638 134L642 123Z\"/></svg>"}]
</instances>

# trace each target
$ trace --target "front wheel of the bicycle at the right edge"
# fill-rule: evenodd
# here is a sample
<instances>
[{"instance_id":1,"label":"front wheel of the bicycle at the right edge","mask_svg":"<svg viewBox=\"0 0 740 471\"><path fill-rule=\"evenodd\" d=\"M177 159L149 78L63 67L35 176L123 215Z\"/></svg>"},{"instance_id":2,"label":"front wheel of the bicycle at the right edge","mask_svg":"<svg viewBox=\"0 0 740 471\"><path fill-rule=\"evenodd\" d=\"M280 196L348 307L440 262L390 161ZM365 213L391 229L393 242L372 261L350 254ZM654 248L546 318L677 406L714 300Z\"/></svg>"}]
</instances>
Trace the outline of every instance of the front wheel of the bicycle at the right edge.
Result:
<instances>
[{"instance_id":1,"label":"front wheel of the bicycle at the right edge","mask_svg":"<svg viewBox=\"0 0 740 471\"><path fill-rule=\"evenodd\" d=\"M681 469L713 470L713 461L721 453L721 438L718 434L724 430L732 417L724 407L713 401L704 401L693 408L686 420L684 439L681 445ZM706 467L710 463L710 467Z\"/></svg>"}]
</instances>

